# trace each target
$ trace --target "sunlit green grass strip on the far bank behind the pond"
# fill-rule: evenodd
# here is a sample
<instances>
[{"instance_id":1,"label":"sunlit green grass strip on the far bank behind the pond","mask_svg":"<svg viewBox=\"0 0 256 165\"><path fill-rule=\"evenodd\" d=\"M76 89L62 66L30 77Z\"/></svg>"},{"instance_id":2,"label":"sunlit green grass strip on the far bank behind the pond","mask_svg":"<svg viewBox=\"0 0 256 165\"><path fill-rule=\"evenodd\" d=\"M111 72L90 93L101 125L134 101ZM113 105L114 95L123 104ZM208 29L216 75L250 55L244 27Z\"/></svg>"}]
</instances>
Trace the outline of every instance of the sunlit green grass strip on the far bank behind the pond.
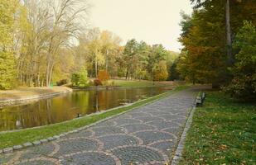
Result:
<instances>
[{"instance_id":1,"label":"sunlit green grass strip on the far bank behind the pond","mask_svg":"<svg viewBox=\"0 0 256 165\"><path fill-rule=\"evenodd\" d=\"M165 86L167 84L162 82L151 82L151 81L138 81L138 80L109 80L109 85L112 85L114 82L114 86L119 87L152 87L152 86Z\"/></svg>"}]
</instances>

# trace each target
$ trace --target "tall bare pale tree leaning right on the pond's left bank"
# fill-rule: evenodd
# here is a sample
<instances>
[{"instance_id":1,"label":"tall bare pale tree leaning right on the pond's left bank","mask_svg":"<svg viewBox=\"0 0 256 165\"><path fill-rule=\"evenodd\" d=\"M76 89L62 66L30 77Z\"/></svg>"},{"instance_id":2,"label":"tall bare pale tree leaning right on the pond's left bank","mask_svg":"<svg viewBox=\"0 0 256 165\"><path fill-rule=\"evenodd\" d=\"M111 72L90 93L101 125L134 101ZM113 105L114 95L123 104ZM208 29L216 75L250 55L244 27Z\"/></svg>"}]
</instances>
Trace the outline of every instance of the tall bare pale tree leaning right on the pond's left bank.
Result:
<instances>
[{"instance_id":1,"label":"tall bare pale tree leaning right on the pond's left bank","mask_svg":"<svg viewBox=\"0 0 256 165\"><path fill-rule=\"evenodd\" d=\"M52 71L60 46L69 46L70 37L78 35L81 26L77 22L80 18L84 18L88 10L87 3L80 0L61 0L57 4L51 3L51 8L54 14L47 50L46 86L51 83Z\"/></svg>"}]
</instances>

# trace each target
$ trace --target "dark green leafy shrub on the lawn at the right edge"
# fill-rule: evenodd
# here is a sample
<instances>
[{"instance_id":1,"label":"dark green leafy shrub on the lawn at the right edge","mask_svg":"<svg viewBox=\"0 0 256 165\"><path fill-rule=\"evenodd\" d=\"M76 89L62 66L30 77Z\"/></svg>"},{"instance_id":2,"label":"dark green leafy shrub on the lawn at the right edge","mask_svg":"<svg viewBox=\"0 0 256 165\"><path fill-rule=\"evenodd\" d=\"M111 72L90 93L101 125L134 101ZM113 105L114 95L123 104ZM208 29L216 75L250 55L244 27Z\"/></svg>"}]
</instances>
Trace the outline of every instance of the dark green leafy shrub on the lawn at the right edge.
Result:
<instances>
[{"instance_id":1,"label":"dark green leafy shrub on the lawn at the right edge","mask_svg":"<svg viewBox=\"0 0 256 165\"><path fill-rule=\"evenodd\" d=\"M234 40L235 64L231 68L234 78L225 92L240 100L256 100L256 27L244 21Z\"/></svg>"}]
</instances>

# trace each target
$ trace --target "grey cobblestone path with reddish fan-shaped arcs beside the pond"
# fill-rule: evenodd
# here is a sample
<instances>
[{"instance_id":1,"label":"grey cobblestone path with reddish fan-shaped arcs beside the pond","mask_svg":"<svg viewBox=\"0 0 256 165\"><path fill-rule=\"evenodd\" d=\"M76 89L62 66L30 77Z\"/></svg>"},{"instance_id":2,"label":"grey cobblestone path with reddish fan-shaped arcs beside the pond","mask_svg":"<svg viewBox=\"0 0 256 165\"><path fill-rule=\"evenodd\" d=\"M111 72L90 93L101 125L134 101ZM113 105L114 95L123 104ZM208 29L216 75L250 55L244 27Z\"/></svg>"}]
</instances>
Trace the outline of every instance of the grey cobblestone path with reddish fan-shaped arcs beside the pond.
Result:
<instances>
[{"instance_id":1,"label":"grey cobblestone path with reddish fan-shaped arcs beside the pond","mask_svg":"<svg viewBox=\"0 0 256 165\"><path fill-rule=\"evenodd\" d=\"M176 92L55 141L0 155L0 164L168 163L198 90Z\"/></svg>"}]
</instances>

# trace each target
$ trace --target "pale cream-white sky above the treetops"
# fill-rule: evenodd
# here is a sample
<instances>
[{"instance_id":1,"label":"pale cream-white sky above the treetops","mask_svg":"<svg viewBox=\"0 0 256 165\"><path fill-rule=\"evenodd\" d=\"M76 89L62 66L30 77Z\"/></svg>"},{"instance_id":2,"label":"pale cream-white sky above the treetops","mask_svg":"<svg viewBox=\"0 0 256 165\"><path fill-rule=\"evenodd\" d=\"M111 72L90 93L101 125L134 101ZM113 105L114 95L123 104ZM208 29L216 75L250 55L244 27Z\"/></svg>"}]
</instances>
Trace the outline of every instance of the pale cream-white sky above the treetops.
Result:
<instances>
[{"instance_id":1,"label":"pale cream-white sky above the treetops","mask_svg":"<svg viewBox=\"0 0 256 165\"><path fill-rule=\"evenodd\" d=\"M190 14L189 0L89 0L90 26L108 30L123 39L135 38L147 44L162 44L179 51L180 12Z\"/></svg>"}]
</instances>

